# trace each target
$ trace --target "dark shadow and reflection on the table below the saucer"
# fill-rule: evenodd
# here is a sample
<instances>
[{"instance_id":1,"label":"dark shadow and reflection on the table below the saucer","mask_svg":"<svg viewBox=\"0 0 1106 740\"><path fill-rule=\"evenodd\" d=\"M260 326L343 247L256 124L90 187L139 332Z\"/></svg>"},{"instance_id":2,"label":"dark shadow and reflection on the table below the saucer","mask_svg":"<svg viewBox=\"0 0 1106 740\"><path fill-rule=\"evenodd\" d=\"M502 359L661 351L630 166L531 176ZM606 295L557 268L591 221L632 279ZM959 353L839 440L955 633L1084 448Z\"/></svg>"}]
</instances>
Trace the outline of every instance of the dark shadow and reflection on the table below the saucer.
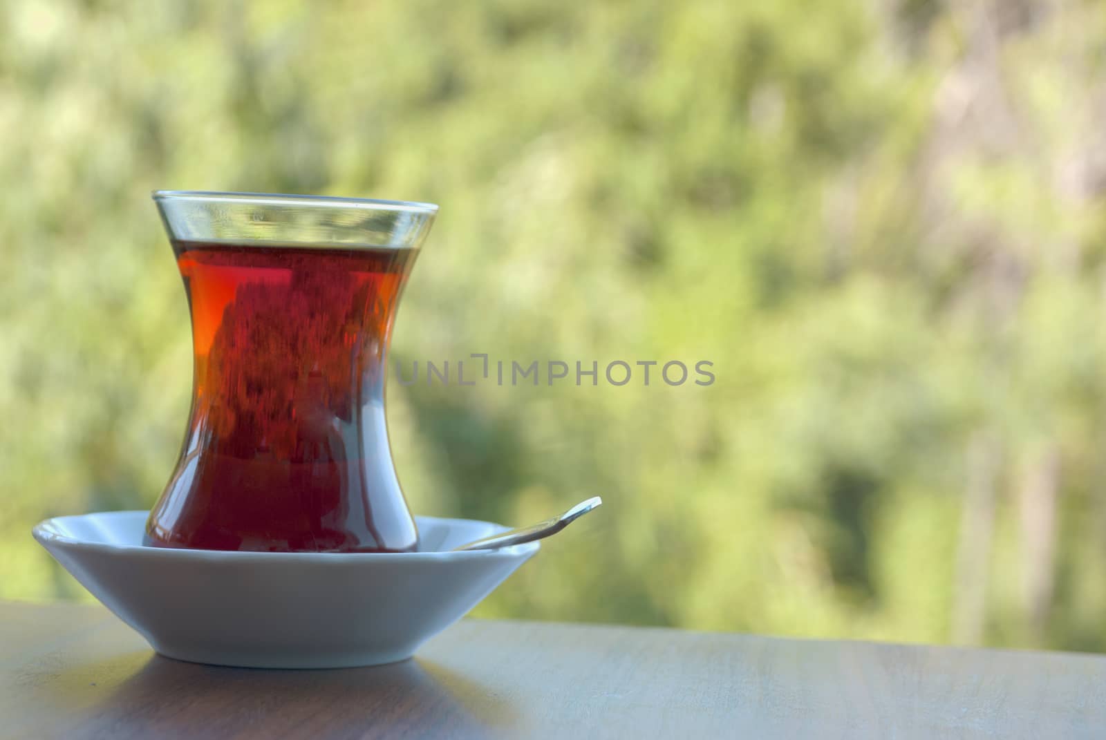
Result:
<instances>
[{"instance_id":1,"label":"dark shadow and reflection on the table below the saucer","mask_svg":"<svg viewBox=\"0 0 1106 740\"><path fill-rule=\"evenodd\" d=\"M503 736L515 720L486 687L418 659L270 670L132 654L55 674L38 689L82 737L469 738Z\"/></svg>"}]
</instances>

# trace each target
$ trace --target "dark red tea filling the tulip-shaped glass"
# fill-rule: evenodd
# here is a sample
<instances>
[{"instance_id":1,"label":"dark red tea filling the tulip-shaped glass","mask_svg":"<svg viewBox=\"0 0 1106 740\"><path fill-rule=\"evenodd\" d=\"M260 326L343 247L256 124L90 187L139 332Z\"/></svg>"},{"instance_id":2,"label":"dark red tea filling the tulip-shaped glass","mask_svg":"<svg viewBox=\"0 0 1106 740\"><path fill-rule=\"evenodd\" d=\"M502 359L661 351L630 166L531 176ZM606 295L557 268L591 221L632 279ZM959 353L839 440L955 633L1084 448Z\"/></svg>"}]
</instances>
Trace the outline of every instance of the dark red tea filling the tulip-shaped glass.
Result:
<instances>
[{"instance_id":1,"label":"dark red tea filling the tulip-shaped glass","mask_svg":"<svg viewBox=\"0 0 1106 740\"><path fill-rule=\"evenodd\" d=\"M148 544L410 551L385 352L415 249L174 241L195 388Z\"/></svg>"}]
</instances>

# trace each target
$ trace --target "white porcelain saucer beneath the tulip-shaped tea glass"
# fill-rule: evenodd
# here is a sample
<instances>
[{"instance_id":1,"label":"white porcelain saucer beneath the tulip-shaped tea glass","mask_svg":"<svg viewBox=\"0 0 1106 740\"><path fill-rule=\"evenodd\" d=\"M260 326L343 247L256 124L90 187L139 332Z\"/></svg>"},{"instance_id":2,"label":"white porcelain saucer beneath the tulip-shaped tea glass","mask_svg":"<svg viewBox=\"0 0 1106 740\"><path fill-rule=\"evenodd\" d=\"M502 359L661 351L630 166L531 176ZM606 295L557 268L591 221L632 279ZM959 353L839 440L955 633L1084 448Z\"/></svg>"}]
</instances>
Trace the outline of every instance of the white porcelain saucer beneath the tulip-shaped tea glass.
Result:
<instances>
[{"instance_id":1,"label":"white porcelain saucer beneath the tulip-shaped tea glass","mask_svg":"<svg viewBox=\"0 0 1106 740\"><path fill-rule=\"evenodd\" d=\"M421 552L271 553L148 548L148 512L56 517L34 539L161 655L255 668L410 657L539 543L447 552L507 528L417 517Z\"/></svg>"}]
</instances>

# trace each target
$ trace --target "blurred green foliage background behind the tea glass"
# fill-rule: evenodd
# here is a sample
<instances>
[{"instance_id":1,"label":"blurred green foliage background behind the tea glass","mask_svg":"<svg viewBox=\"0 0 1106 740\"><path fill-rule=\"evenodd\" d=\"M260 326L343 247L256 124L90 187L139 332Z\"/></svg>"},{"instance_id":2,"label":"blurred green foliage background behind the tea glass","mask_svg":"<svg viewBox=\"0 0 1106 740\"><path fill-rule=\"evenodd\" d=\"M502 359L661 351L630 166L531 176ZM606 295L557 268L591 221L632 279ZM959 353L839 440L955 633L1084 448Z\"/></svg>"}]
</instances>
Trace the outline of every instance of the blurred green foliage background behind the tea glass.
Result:
<instances>
[{"instance_id":1,"label":"blurred green foliage background behind the tea glass","mask_svg":"<svg viewBox=\"0 0 1106 740\"><path fill-rule=\"evenodd\" d=\"M1106 650L1106 7L0 4L0 597L188 411L148 191L430 200L389 384L418 513L539 519L483 616Z\"/></svg>"}]
</instances>

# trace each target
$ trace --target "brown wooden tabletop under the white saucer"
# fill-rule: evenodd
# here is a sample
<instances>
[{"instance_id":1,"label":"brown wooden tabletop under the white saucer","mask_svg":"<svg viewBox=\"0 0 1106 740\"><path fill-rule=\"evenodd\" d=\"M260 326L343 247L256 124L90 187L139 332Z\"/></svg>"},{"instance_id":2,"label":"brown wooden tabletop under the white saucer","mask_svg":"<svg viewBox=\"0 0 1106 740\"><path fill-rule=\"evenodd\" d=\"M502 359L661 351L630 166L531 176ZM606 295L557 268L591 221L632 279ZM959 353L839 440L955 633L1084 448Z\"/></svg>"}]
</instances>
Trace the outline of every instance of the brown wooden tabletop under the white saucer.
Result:
<instances>
[{"instance_id":1,"label":"brown wooden tabletop under the white saucer","mask_svg":"<svg viewBox=\"0 0 1106 740\"><path fill-rule=\"evenodd\" d=\"M392 666L251 670L0 603L0 737L1106 738L1106 657L470 619Z\"/></svg>"}]
</instances>

